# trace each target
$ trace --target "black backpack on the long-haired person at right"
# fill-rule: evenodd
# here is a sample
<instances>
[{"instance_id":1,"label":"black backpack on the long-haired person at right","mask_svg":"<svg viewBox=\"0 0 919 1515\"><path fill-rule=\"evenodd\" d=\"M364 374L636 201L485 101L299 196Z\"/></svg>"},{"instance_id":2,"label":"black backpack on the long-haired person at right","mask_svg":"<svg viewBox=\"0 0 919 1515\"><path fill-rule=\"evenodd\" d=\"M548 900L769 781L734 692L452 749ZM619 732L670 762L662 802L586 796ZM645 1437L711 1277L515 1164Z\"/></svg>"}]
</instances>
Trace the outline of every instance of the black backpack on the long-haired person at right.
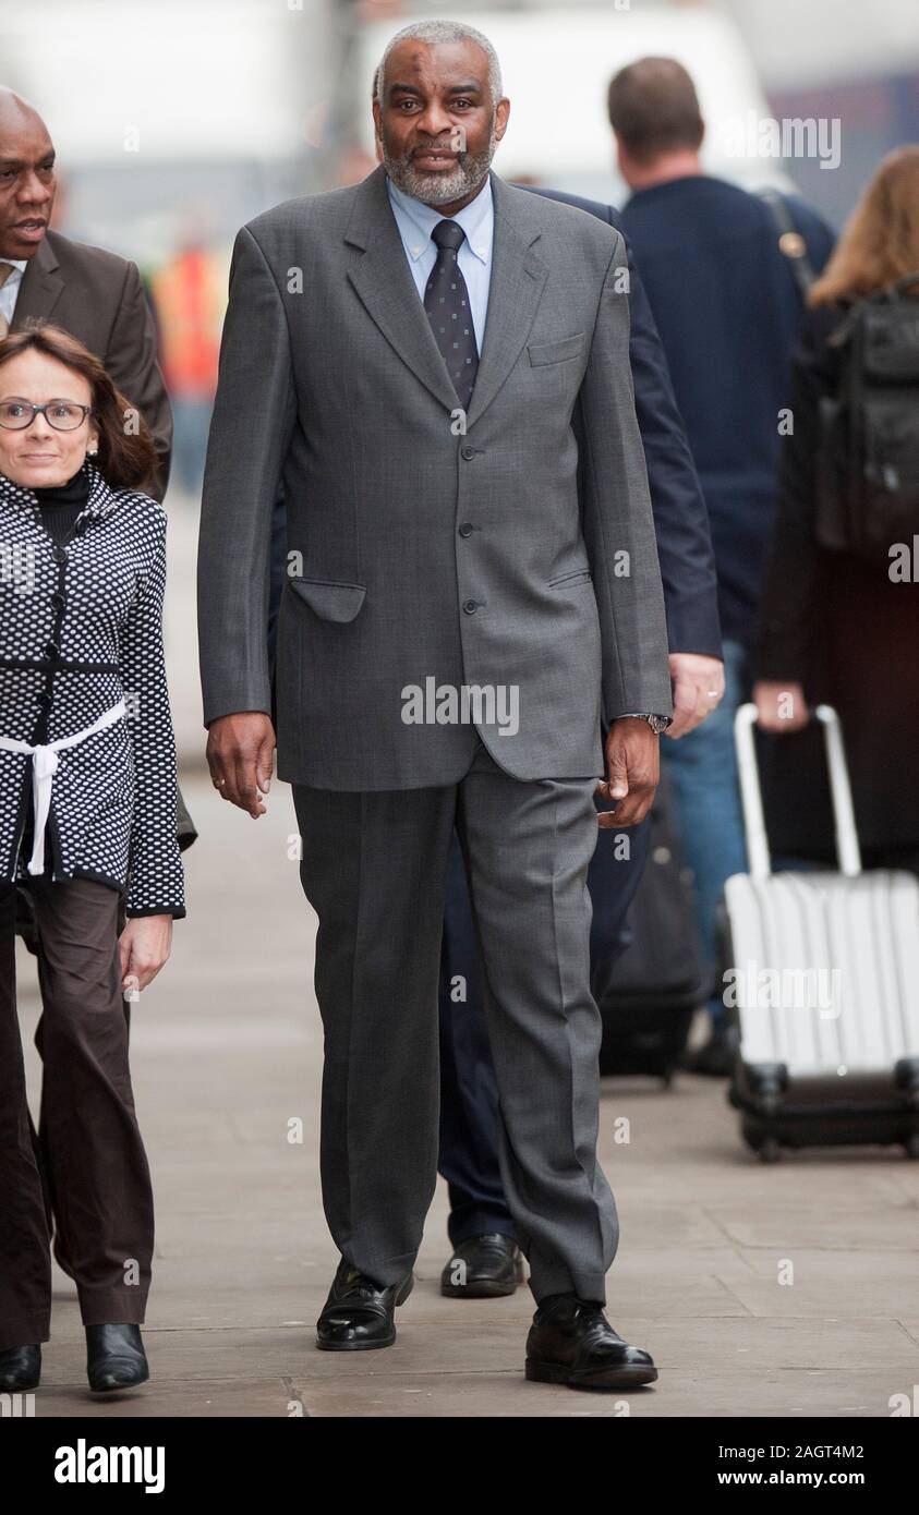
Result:
<instances>
[{"instance_id":1,"label":"black backpack on the long-haired person at right","mask_svg":"<svg viewBox=\"0 0 919 1515\"><path fill-rule=\"evenodd\" d=\"M898 279L830 338L843 364L819 406L814 532L834 551L887 559L919 533L917 294L919 273Z\"/></svg>"}]
</instances>

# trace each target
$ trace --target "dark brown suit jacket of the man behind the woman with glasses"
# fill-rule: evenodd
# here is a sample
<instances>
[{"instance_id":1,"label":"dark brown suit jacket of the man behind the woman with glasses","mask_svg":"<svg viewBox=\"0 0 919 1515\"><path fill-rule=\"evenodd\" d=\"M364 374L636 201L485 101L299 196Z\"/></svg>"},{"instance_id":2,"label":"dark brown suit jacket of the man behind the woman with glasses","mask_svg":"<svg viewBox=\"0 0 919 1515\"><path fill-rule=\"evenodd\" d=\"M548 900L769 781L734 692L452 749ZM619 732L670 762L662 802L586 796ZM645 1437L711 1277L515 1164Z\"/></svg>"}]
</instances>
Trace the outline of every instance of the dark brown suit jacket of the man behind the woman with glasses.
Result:
<instances>
[{"instance_id":1,"label":"dark brown suit jacket of the man behind the woman with glasses","mask_svg":"<svg viewBox=\"0 0 919 1515\"><path fill-rule=\"evenodd\" d=\"M23 271L11 332L52 321L102 359L153 432L159 465L149 494L162 501L170 474L173 414L159 364L156 326L136 265L61 232L45 232Z\"/></svg>"}]
</instances>

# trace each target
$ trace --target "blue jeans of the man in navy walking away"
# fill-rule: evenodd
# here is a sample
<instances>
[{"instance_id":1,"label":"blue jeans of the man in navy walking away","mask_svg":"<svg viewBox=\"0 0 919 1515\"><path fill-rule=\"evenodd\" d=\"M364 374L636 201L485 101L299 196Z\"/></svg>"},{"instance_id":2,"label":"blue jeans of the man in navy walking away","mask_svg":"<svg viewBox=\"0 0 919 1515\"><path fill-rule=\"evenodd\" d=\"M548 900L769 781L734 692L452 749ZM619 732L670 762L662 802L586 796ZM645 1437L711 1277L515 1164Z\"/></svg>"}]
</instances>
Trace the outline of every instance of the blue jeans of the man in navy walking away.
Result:
<instances>
[{"instance_id":1,"label":"blue jeans of the man in navy walking away","mask_svg":"<svg viewBox=\"0 0 919 1515\"><path fill-rule=\"evenodd\" d=\"M725 644L725 697L704 726L678 741L661 739L661 761L673 789L682 853L695 874L696 924L705 962L717 961L716 921L725 879L746 873L746 841L737 782L734 717L748 697L740 642ZM725 1024L725 1006L717 994L710 1000L716 1026Z\"/></svg>"}]
</instances>

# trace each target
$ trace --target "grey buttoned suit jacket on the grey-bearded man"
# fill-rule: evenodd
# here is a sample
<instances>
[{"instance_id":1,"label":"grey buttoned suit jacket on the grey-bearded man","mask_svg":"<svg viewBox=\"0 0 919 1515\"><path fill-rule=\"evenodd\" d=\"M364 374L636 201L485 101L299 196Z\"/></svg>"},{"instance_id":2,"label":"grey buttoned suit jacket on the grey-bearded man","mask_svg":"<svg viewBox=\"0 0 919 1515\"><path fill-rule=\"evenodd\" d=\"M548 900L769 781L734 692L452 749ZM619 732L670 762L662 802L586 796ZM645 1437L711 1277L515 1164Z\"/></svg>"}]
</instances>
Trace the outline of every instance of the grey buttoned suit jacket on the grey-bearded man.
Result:
<instances>
[{"instance_id":1,"label":"grey buttoned suit jacket on the grey-bearded man","mask_svg":"<svg viewBox=\"0 0 919 1515\"><path fill-rule=\"evenodd\" d=\"M199 553L205 724L271 709L278 773L329 789L456 782L476 729L519 779L604 773L602 730L669 714L664 603L629 371L623 239L491 174L488 320L466 435L385 171L237 236ZM406 691L428 695L422 724ZM517 729L507 712L517 706Z\"/></svg>"}]
</instances>

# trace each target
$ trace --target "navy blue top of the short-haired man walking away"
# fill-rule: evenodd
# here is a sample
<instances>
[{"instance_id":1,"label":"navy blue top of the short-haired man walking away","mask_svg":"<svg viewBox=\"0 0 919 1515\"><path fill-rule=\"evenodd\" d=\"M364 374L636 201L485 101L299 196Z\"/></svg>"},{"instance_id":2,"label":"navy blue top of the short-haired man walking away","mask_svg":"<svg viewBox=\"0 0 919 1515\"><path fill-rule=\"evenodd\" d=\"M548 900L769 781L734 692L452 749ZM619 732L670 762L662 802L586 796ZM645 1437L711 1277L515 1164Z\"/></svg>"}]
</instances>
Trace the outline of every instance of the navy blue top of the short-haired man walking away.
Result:
<instances>
[{"instance_id":1,"label":"navy blue top of the short-haired man walking away","mask_svg":"<svg viewBox=\"0 0 919 1515\"><path fill-rule=\"evenodd\" d=\"M820 270L833 233L787 198ZM802 301L758 195L698 174L640 189L620 224L664 344L708 504L722 633L749 645L775 514L778 412Z\"/></svg>"}]
</instances>

